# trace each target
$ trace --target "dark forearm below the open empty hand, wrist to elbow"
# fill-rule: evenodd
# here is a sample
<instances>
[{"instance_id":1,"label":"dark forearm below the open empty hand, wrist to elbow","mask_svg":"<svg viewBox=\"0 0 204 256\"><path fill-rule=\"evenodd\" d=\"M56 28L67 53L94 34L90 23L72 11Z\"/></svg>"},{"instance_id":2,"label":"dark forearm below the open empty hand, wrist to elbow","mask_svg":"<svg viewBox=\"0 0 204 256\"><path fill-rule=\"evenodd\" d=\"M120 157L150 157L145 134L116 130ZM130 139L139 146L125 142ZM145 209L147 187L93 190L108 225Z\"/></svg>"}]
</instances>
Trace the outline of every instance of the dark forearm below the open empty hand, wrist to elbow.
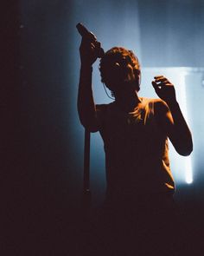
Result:
<instances>
[{"instance_id":1,"label":"dark forearm below the open empty hand, wrist to elbow","mask_svg":"<svg viewBox=\"0 0 204 256\"><path fill-rule=\"evenodd\" d=\"M178 102L168 102L168 106L173 118L173 140L177 151L182 155L188 155L193 150L192 135L188 124L182 115Z\"/></svg>"}]
</instances>

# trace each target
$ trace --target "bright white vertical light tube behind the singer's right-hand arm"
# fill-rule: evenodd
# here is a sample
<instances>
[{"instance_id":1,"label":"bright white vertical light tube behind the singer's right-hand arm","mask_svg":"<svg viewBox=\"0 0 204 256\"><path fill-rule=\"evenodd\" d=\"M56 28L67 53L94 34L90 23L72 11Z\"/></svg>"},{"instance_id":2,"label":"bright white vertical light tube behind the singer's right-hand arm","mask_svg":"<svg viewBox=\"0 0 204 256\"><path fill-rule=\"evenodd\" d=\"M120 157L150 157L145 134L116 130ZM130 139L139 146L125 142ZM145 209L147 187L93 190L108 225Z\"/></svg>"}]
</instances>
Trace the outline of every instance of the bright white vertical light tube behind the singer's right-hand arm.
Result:
<instances>
[{"instance_id":1,"label":"bright white vertical light tube behind the singer's right-hand arm","mask_svg":"<svg viewBox=\"0 0 204 256\"><path fill-rule=\"evenodd\" d=\"M185 73L183 72L180 76L180 93L181 93L181 105L182 105L182 113L185 116L186 121L188 122L188 111L187 111L187 94L186 94L186 86L185 86ZM193 182L193 171L192 171L192 160L191 156L187 156L185 159L185 181L188 184Z\"/></svg>"}]
</instances>

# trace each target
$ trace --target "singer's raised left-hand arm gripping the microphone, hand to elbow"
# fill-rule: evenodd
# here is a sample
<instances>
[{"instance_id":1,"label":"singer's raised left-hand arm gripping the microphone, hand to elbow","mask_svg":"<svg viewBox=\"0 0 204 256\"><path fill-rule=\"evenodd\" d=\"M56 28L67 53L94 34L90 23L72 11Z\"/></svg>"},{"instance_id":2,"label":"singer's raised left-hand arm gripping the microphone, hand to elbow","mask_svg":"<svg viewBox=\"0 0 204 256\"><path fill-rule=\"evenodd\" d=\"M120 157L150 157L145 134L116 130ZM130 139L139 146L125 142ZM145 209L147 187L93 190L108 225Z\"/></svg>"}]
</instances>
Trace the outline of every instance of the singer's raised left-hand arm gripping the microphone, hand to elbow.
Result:
<instances>
[{"instance_id":1,"label":"singer's raised left-hand arm gripping the microphone, hand to elbow","mask_svg":"<svg viewBox=\"0 0 204 256\"><path fill-rule=\"evenodd\" d=\"M81 124L91 132L98 130L95 103L92 95L92 64L98 57L99 42L82 38L80 44L80 84L78 92L78 113Z\"/></svg>"}]
</instances>

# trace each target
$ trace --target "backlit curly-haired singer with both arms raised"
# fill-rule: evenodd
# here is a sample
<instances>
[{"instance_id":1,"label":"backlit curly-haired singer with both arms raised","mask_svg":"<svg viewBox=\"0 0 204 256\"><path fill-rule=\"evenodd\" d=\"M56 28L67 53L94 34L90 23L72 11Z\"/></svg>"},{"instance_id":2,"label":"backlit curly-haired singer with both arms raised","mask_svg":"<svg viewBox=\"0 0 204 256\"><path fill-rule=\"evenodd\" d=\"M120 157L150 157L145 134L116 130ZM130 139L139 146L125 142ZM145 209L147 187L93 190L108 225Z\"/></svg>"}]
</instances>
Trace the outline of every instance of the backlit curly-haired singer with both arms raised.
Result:
<instances>
[{"instance_id":1,"label":"backlit curly-haired singer with both arms raised","mask_svg":"<svg viewBox=\"0 0 204 256\"><path fill-rule=\"evenodd\" d=\"M168 138L178 154L188 155L193 149L175 87L157 75L152 85L160 99L138 96L141 72L137 56L114 47L101 58L99 70L115 101L96 105L92 63L98 49L99 43L82 40L78 110L82 125L90 132L99 131L105 146L107 187L99 240L106 238L107 244L101 242L100 252L172 255L175 181ZM102 250L110 245L110 251Z\"/></svg>"}]
</instances>

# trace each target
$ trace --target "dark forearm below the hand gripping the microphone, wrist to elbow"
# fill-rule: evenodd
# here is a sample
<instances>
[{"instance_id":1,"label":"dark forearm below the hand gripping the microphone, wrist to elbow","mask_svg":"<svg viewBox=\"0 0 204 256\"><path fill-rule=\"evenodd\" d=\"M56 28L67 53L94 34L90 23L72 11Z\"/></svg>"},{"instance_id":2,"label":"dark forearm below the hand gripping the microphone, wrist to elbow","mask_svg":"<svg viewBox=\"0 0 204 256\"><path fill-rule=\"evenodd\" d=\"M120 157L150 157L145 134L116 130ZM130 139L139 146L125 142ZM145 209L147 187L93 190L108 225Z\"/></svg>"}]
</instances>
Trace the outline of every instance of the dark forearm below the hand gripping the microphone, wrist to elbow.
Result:
<instances>
[{"instance_id":1,"label":"dark forearm below the hand gripping the microphone, wrist to elbow","mask_svg":"<svg viewBox=\"0 0 204 256\"><path fill-rule=\"evenodd\" d=\"M81 65L78 92L78 113L81 124L95 131L97 128L96 109L92 96L92 66Z\"/></svg>"}]
</instances>

